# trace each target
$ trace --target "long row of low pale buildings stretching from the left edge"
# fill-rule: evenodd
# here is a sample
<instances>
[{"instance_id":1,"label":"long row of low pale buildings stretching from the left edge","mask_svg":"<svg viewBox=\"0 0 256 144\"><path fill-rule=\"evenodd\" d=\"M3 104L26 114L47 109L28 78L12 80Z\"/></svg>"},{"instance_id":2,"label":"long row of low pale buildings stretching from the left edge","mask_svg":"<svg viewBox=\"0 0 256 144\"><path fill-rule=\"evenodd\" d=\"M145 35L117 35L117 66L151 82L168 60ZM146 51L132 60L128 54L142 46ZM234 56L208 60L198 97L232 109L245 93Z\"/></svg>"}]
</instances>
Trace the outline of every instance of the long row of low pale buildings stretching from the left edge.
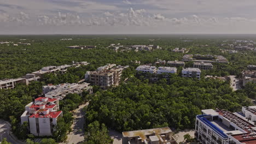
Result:
<instances>
[{"instance_id":1,"label":"long row of low pale buildings stretching from the left edge","mask_svg":"<svg viewBox=\"0 0 256 144\"><path fill-rule=\"evenodd\" d=\"M32 72L32 74L26 74L23 77L19 77L18 79L3 79L0 80L0 89L12 89L18 83L25 83L28 85L32 81L38 81L43 74L50 74L59 71L61 74L66 73L67 69L70 67L80 67L80 65L88 65L88 62L73 62L72 65L60 65L60 66L48 66L43 67L38 71Z\"/></svg>"}]
</instances>

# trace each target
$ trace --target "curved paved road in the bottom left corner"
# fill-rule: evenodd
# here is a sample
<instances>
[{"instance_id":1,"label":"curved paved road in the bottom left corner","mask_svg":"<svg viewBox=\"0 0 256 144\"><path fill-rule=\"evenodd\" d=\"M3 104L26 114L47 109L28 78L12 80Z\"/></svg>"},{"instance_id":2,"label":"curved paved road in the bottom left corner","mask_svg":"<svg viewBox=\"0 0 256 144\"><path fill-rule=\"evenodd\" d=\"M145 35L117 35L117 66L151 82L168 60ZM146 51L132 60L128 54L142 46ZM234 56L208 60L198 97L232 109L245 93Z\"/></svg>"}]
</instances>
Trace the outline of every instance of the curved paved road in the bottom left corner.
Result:
<instances>
[{"instance_id":1,"label":"curved paved road in the bottom left corner","mask_svg":"<svg viewBox=\"0 0 256 144\"><path fill-rule=\"evenodd\" d=\"M24 144L24 142L18 140L16 136L14 136L13 134L10 134L10 127L11 127L10 123L0 119L0 135L2 135L2 139L6 138L7 141L10 143Z\"/></svg>"}]
</instances>

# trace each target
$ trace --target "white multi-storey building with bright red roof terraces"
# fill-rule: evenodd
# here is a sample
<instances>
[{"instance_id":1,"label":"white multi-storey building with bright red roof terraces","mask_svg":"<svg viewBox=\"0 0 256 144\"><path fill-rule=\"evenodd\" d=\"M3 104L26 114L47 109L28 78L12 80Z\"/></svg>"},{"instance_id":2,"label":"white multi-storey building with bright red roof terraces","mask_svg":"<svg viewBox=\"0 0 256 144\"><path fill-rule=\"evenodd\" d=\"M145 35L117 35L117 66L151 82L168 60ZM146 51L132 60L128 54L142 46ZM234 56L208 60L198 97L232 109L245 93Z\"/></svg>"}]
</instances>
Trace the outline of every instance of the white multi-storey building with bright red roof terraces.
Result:
<instances>
[{"instance_id":1,"label":"white multi-storey building with bright red roof terraces","mask_svg":"<svg viewBox=\"0 0 256 144\"><path fill-rule=\"evenodd\" d=\"M39 97L25 106L20 116L21 124L28 122L30 133L36 136L50 136L55 131L57 119L62 117L59 100Z\"/></svg>"}]
</instances>

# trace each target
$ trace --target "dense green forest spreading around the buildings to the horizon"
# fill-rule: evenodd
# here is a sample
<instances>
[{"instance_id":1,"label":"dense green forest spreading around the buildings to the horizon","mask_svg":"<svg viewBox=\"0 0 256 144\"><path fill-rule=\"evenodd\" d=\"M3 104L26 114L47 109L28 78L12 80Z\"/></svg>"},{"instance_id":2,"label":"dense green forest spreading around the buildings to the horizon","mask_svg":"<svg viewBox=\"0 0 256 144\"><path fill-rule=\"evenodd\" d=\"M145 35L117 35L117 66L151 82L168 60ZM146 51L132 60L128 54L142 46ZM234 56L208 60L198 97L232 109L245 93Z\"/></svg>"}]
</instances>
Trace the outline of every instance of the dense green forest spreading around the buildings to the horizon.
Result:
<instances>
[{"instance_id":1,"label":"dense green forest spreading around the buildings to the horizon","mask_svg":"<svg viewBox=\"0 0 256 144\"><path fill-rule=\"evenodd\" d=\"M127 38L117 40L115 38ZM73 40L61 41L62 38ZM102 91L94 86L95 94L69 94L60 101L63 118L59 119L53 139L65 141L73 121L72 110L79 104L90 101L86 107L85 143L98 143L101 140L111 142L107 135L107 127L118 131L146 129L168 126L174 130L194 127L195 116L201 109L226 109L240 111L241 106L252 105L256 97L255 84L248 83L245 89L232 91L230 81L205 79L205 75L237 75L246 69L248 64L256 65L255 52L222 53L219 45L228 36L210 35L2 35L0 41L27 39L22 43L31 45L13 46L0 44L0 79L16 78L39 70L48 65L71 64L72 61L87 61L91 63L79 68L69 68L66 74L46 74L38 82L25 86L17 85L14 89L0 90L0 118L12 124L12 131L19 139L27 139L33 143L34 138L27 134L26 124L20 125L20 115L25 105L42 94L42 86L47 83L78 82L84 78L86 71L96 70L107 63L130 65L124 70L122 82L118 87ZM236 38L239 38L238 36ZM154 40L153 40L154 39ZM184 42L191 39L191 42ZM233 38L229 38L233 39ZM253 38L251 38L253 39ZM108 48L110 44L121 45L159 45L162 50L153 51L118 51ZM209 46L198 46L198 45ZM71 45L96 45L96 49L68 49ZM137 64L131 61L141 61L141 64L154 63L157 58L165 61L181 59L182 53L172 52L175 47L189 49L187 54L222 55L229 64L214 63L213 70L202 70L202 79L189 79L178 74L169 75L169 79L150 81L148 75L136 74ZM187 66L191 62L186 63ZM90 134L90 135L88 135ZM102 135L100 135L102 134ZM97 139L98 138L98 139ZM52 141L51 139L44 140Z\"/></svg>"}]
</instances>

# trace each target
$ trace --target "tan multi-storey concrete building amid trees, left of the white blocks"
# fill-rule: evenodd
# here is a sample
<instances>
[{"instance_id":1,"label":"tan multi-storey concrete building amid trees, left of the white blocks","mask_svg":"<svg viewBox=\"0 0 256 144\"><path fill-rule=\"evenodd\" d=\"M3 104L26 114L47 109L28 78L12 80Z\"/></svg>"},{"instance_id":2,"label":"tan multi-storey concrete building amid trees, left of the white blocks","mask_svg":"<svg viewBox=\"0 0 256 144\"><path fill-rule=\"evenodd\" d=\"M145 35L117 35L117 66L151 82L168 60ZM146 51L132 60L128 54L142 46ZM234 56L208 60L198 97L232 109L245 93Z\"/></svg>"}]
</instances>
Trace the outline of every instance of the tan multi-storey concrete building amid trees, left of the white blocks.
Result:
<instances>
[{"instance_id":1,"label":"tan multi-storey concrete building amid trees, left of the white blocks","mask_svg":"<svg viewBox=\"0 0 256 144\"><path fill-rule=\"evenodd\" d=\"M116 64L107 64L103 67L97 68L96 71L87 71L85 80L92 83L92 85L100 86L102 89L107 89L110 86L118 86L121 80L123 69L129 66L120 66Z\"/></svg>"}]
</instances>

